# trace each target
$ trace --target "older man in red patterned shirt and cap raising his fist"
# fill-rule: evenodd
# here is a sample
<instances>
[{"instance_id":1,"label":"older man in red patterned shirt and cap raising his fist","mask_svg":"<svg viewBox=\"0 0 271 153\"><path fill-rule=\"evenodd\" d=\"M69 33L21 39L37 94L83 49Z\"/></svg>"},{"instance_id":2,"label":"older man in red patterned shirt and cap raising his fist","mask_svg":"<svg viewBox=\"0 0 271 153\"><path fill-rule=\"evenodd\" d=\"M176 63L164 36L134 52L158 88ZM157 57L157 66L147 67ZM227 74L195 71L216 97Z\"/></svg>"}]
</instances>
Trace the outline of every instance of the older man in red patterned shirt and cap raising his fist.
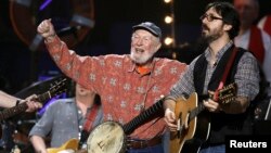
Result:
<instances>
[{"instance_id":1,"label":"older man in red patterned shirt and cap raising his fist","mask_svg":"<svg viewBox=\"0 0 271 153\"><path fill-rule=\"evenodd\" d=\"M124 55L80 56L60 40L50 20L41 22L37 30L62 72L100 94L105 122L127 124L167 94L186 68L177 60L155 58L162 47L162 30L151 22L132 27L130 54ZM129 133L129 153L164 152L163 113L149 117Z\"/></svg>"}]
</instances>

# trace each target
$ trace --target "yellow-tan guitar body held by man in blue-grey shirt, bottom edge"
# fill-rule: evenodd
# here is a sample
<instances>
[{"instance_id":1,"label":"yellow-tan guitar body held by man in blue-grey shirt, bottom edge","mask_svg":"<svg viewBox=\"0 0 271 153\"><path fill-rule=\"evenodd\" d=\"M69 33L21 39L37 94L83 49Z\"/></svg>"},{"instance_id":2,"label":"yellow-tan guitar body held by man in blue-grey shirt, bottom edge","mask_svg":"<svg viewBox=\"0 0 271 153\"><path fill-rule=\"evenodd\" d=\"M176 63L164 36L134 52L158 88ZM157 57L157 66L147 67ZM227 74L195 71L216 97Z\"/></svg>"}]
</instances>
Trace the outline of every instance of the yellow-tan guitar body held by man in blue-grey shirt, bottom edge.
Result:
<instances>
[{"instance_id":1,"label":"yellow-tan guitar body held by man in blue-grey shirt, bottom edge","mask_svg":"<svg viewBox=\"0 0 271 153\"><path fill-rule=\"evenodd\" d=\"M67 151L67 153L75 153L78 150L79 141L77 139L69 139L60 148L47 149L48 153L59 153L61 151Z\"/></svg>"}]
</instances>

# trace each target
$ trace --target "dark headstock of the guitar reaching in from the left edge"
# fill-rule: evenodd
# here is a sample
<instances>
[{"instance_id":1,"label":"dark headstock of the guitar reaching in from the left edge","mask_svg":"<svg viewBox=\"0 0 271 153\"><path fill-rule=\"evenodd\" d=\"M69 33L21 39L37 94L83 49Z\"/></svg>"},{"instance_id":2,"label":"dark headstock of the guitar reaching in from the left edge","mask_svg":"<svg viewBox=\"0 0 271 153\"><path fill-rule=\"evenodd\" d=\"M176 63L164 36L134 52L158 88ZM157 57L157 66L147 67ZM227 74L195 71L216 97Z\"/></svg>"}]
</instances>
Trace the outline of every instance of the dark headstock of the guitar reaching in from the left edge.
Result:
<instances>
[{"instance_id":1,"label":"dark headstock of the guitar reaching in from the left edge","mask_svg":"<svg viewBox=\"0 0 271 153\"><path fill-rule=\"evenodd\" d=\"M63 92L66 92L67 81L68 81L67 78L62 78L61 80L54 81L49 89L50 95L54 97Z\"/></svg>"}]
</instances>

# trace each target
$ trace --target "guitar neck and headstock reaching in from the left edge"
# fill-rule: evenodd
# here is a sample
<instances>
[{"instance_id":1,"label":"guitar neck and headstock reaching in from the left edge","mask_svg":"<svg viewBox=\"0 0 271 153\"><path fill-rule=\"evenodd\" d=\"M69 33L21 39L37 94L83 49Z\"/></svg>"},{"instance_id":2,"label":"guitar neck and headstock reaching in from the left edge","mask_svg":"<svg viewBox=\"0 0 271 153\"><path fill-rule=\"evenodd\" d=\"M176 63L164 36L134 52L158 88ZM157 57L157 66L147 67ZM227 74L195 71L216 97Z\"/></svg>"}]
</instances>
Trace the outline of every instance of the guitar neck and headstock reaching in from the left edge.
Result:
<instances>
[{"instance_id":1,"label":"guitar neck and headstock reaching in from the left edge","mask_svg":"<svg viewBox=\"0 0 271 153\"><path fill-rule=\"evenodd\" d=\"M37 97L37 101L42 103L42 102L46 102L60 93L65 92L66 91L66 81L67 81L67 78L62 78L61 80L56 80L55 82L52 84L52 87L49 89L49 91L47 91L42 94L39 94ZM5 109L2 112L0 112L0 122L4 120L7 118L10 118L12 116L18 115L18 114L25 112L27 109L28 109L28 106L27 106L26 102L20 103L18 105L10 107L10 109ZM1 137L2 137L2 130L0 132L0 138Z\"/></svg>"}]
</instances>

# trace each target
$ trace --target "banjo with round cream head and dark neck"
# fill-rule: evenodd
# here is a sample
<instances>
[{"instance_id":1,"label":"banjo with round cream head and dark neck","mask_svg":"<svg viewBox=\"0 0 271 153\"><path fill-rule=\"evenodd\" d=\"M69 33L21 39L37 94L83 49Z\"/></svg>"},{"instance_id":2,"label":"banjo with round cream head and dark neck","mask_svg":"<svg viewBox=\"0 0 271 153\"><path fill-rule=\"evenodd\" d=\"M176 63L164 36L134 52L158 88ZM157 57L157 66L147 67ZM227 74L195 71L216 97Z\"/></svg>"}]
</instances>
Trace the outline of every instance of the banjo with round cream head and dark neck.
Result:
<instances>
[{"instance_id":1,"label":"banjo with round cream head and dark neck","mask_svg":"<svg viewBox=\"0 0 271 153\"><path fill-rule=\"evenodd\" d=\"M105 122L96 126L87 140L88 153L125 153L127 149L126 136L132 133L157 112L163 111L164 99L158 100L124 126L116 122Z\"/></svg>"}]
</instances>

